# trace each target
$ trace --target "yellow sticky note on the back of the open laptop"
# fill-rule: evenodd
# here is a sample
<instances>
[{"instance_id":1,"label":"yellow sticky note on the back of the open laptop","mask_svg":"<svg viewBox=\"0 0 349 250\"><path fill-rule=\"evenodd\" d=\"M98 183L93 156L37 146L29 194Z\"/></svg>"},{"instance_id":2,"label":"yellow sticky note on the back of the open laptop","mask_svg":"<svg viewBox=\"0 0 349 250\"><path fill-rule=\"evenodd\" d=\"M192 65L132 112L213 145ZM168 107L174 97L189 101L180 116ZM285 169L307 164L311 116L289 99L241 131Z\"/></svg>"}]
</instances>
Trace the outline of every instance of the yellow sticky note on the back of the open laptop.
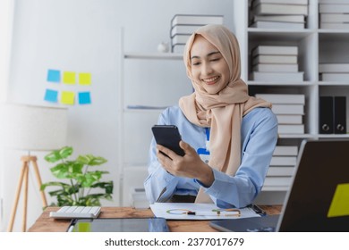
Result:
<instances>
[{"instance_id":1,"label":"yellow sticky note on the back of the open laptop","mask_svg":"<svg viewBox=\"0 0 349 250\"><path fill-rule=\"evenodd\" d=\"M328 217L349 215L349 183L338 184L329 206Z\"/></svg>"}]
</instances>

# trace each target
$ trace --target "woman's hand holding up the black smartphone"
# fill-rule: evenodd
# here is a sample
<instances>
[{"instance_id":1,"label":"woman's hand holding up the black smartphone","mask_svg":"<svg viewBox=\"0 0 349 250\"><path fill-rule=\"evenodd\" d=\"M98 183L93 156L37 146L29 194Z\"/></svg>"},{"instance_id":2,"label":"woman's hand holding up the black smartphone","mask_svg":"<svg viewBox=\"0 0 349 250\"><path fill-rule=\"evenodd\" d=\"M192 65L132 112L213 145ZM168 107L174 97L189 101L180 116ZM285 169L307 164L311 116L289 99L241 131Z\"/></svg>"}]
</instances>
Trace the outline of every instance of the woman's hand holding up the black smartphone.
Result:
<instances>
[{"instance_id":1,"label":"woman's hand holding up the black smartphone","mask_svg":"<svg viewBox=\"0 0 349 250\"><path fill-rule=\"evenodd\" d=\"M198 179L205 187L210 187L214 176L209 165L202 162L199 154L189 144L181 141L179 146L184 150L184 156L175 154L165 146L157 145L158 162L166 171L175 176ZM168 157L161 154L160 151L167 154Z\"/></svg>"}]
</instances>

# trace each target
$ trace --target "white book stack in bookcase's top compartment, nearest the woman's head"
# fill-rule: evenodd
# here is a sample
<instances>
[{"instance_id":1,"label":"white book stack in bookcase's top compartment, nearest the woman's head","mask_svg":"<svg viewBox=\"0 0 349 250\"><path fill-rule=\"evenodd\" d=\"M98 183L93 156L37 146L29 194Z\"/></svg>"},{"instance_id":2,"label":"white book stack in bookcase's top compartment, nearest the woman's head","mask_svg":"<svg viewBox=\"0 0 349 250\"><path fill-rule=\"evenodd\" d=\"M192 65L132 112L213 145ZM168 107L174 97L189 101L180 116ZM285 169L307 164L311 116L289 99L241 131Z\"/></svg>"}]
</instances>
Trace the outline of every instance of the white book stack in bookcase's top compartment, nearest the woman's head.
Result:
<instances>
[{"instance_id":1,"label":"white book stack in bookcase's top compartment, nearest the woman's head","mask_svg":"<svg viewBox=\"0 0 349 250\"><path fill-rule=\"evenodd\" d=\"M250 27L262 29L304 29L308 0L253 0Z\"/></svg>"}]
</instances>

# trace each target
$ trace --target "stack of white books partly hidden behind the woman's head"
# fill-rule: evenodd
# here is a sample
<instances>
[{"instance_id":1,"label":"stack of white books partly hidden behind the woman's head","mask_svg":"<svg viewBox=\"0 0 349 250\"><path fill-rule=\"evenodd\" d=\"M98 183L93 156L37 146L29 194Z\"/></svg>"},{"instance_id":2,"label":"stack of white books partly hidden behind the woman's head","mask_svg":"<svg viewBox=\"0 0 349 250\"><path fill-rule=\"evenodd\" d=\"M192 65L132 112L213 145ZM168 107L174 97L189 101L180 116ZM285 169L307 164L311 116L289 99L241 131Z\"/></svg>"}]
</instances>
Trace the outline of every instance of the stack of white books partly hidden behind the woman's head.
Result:
<instances>
[{"instance_id":1,"label":"stack of white books partly hidden behind the woman's head","mask_svg":"<svg viewBox=\"0 0 349 250\"><path fill-rule=\"evenodd\" d=\"M171 52L183 53L192 33L207 24L223 24L223 15L175 14L171 20Z\"/></svg>"}]
</instances>

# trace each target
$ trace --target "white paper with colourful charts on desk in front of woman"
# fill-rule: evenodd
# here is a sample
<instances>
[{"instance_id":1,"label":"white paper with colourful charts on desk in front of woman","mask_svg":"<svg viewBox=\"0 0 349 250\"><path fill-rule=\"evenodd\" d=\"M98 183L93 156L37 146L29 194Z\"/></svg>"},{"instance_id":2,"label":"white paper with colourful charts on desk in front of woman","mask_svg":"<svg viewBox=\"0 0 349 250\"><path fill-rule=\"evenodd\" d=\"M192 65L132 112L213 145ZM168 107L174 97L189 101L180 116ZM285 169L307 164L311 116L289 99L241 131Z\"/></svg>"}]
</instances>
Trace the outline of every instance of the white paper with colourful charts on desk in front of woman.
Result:
<instances>
[{"instance_id":1,"label":"white paper with colourful charts on desk in front of woman","mask_svg":"<svg viewBox=\"0 0 349 250\"><path fill-rule=\"evenodd\" d=\"M252 207L218 208L215 204L194 203L154 203L150 204L156 217L167 220L226 220L247 217L260 217Z\"/></svg>"}]
</instances>

